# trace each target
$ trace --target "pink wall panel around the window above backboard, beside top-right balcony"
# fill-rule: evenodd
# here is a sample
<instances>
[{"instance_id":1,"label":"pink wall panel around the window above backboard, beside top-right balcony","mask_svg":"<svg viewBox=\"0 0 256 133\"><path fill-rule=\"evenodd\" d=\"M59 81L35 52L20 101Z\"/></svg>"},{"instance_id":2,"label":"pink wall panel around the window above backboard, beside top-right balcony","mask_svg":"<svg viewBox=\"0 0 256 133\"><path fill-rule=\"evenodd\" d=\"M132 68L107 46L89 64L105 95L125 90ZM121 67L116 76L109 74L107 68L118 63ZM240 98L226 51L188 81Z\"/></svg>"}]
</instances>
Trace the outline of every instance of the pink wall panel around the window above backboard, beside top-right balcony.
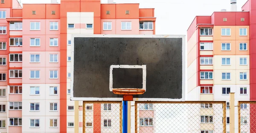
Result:
<instances>
[{"instance_id":1,"label":"pink wall panel around the window above backboard, beside top-right balcony","mask_svg":"<svg viewBox=\"0 0 256 133\"><path fill-rule=\"evenodd\" d=\"M121 22L131 22L131 30L121 30ZM116 19L116 34L139 34L139 19Z\"/></svg>"}]
</instances>

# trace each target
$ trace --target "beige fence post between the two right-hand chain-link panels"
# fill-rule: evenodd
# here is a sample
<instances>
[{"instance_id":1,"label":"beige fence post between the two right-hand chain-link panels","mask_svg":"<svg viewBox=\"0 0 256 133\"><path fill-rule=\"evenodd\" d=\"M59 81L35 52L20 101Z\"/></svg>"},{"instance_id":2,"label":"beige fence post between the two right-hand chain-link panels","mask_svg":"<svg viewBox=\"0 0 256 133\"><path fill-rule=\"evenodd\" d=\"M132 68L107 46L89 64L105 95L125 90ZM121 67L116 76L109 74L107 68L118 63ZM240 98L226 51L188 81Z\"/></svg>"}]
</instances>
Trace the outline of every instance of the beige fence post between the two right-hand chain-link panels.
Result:
<instances>
[{"instance_id":1,"label":"beige fence post between the two right-hand chain-link panels","mask_svg":"<svg viewBox=\"0 0 256 133\"><path fill-rule=\"evenodd\" d=\"M230 93L230 133L235 133L235 93Z\"/></svg>"}]
</instances>

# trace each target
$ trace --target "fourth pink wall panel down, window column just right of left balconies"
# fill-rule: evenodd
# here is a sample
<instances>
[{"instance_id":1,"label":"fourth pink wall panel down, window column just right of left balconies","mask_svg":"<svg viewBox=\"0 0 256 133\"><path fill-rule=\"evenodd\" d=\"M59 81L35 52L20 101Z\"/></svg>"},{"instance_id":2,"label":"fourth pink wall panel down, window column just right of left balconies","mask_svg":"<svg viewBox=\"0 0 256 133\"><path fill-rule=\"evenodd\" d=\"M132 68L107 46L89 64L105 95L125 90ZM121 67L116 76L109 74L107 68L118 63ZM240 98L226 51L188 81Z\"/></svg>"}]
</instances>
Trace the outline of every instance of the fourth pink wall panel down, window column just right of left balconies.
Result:
<instances>
[{"instance_id":1,"label":"fourth pink wall panel down, window column just right of left balconies","mask_svg":"<svg viewBox=\"0 0 256 133\"><path fill-rule=\"evenodd\" d=\"M30 70L40 70L40 79L30 79ZM27 73L22 77L22 83L45 83L45 68L44 67L23 67L23 73Z\"/></svg>"}]
</instances>

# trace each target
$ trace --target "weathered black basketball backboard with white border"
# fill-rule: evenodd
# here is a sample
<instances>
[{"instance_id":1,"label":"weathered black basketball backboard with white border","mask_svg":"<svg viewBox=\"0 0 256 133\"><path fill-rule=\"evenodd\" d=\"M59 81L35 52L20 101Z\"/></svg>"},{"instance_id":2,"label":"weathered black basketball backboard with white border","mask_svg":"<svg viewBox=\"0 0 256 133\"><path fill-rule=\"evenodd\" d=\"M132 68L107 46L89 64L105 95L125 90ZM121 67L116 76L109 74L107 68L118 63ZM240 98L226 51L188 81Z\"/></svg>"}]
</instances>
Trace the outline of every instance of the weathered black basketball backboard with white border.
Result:
<instances>
[{"instance_id":1,"label":"weathered black basketball backboard with white border","mask_svg":"<svg viewBox=\"0 0 256 133\"><path fill-rule=\"evenodd\" d=\"M145 89L134 100L185 100L185 36L73 35L71 100L122 100L112 89Z\"/></svg>"}]
</instances>

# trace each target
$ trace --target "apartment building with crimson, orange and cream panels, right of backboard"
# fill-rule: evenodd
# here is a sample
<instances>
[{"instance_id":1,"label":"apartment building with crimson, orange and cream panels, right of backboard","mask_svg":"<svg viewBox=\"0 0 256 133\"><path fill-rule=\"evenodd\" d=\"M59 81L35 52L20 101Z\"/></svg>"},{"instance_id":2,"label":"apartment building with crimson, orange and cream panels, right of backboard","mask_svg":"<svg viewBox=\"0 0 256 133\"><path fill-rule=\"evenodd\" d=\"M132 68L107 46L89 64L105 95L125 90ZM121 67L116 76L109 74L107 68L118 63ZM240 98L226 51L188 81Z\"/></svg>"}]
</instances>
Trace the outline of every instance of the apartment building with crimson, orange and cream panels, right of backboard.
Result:
<instances>
[{"instance_id":1,"label":"apartment building with crimson, orange and cream panels, right of backboard","mask_svg":"<svg viewBox=\"0 0 256 133\"><path fill-rule=\"evenodd\" d=\"M255 0L248 0L242 11L236 11L236 0L231 0L231 11L223 10L213 12L211 16L196 16L187 30L188 100L227 101L227 133L229 93L235 92L235 104L237 101L255 100L256 97L253 90L256 67L256 48L253 44L255 10ZM201 108L205 107L205 104L201 105ZM207 108L214 109L209 104ZM241 105L241 109L247 109L247 105ZM250 110L247 111L250 114ZM235 113L235 118L238 118L238 111ZM214 123L211 114L201 117L201 123ZM206 117L209 119L207 122ZM254 120L241 117L241 129L250 130ZM237 124L238 119L236 127ZM214 129L202 130L201 133L208 133L206 131L210 133ZM255 131L251 129L250 132Z\"/></svg>"}]
</instances>

